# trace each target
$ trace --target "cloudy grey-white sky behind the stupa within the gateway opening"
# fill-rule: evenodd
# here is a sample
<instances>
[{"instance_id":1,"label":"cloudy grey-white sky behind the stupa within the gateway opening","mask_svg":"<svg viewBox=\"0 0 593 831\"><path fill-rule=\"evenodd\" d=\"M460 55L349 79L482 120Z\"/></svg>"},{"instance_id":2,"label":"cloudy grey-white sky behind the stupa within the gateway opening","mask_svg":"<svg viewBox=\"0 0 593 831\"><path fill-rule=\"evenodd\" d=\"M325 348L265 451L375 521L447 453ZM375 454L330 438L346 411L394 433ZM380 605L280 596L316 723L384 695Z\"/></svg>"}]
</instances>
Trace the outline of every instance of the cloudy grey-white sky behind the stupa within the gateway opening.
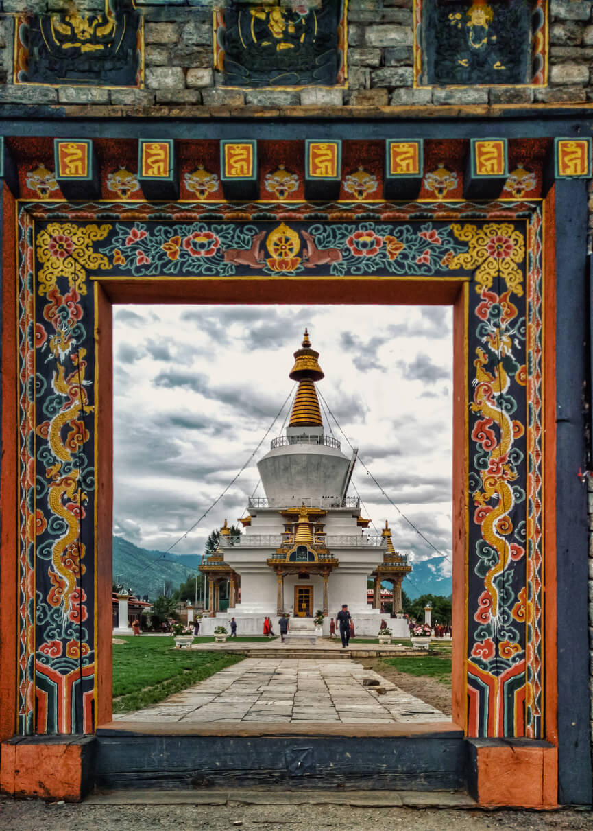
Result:
<instances>
[{"instance_id":1,"label":"cloudy grey-white sky behind the stupa within the gateway opening","mask_svg":"<svg viewBox=\"0 0 593 831\"><path fill-rule=\"evenodd\" d=\"M295 387L288 372L304 327L326 374L318 389L342 430L390 499L450 555L450 307L116 307L115 534L164 551L208 509ZM212 529L246 514L254 490L264 495L255 461L281 434L288 406L175 553L202 553ZM434 555L361 465L353 481L376 528L389 519L397 550Z\"/></svg>"}]
</instances>

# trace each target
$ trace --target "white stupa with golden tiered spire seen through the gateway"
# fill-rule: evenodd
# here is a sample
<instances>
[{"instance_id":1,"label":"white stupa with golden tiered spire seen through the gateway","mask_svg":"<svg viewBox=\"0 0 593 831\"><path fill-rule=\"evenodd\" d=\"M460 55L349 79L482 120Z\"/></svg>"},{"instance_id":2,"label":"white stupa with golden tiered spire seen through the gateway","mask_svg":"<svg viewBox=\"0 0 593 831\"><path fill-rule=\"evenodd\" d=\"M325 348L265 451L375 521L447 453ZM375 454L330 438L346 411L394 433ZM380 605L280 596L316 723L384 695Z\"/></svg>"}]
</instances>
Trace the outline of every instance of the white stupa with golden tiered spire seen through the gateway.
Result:
<instances>
[{"instance_id":1,"label":"white stupa with golden tiered spire seen through the gateway","mask_svg":"<svg viewBox=\"0 0 593 831\"><path fill-rule=\"evenodd\" d=\"M208 576L210 612L203 634L220 618L235 617L238 632L261 634L264 617L277 621L314 617L323 612L324 632L329 617L347 603L358 635L376 636L381 617L380 583L394 585L395 612L401 612L401 580L411 569L407 558L395 552L390 529L372 536L369 519L360 515L360 499L347 495L355 466L341 451L340 442L324 432L316 382L323 372L319 353L311 349L308 332L294 353L290 377L298 381L286 435L257 463L264 497L252 497L245 533L237 540L225 524L218 551L203 563ZM367 580L374 578L373 602L367 600ZM229 580L227 612L218 612L218 588ZM396 637L407 637L403 617L392 618Z\"/></svg>"}]
</instances>

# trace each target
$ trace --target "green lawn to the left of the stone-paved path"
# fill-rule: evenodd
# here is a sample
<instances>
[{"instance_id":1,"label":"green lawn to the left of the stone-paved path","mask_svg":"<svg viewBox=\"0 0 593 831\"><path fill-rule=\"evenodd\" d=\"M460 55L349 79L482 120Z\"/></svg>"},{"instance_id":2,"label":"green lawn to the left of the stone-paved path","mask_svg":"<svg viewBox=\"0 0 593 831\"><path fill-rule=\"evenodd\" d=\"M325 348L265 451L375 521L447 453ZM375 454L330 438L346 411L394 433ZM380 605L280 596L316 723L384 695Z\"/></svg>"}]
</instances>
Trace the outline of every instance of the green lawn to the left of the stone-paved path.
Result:
<instances>
[{"instance_id":1,"label":"green lawn to the left of the stone-paved path","mask_svg":"<svg viewBox=\"0 0 593 831\"><path fill-rule=\"evenodd\" d=\"M171 649L173 637L124 637L113 645L113 711L125 713L156 704L175 692L243 661L224 652ZM213 638L198 638L211 640ZM266 638L267 640L267 638Z\"/></svg>"}]
</instances>

